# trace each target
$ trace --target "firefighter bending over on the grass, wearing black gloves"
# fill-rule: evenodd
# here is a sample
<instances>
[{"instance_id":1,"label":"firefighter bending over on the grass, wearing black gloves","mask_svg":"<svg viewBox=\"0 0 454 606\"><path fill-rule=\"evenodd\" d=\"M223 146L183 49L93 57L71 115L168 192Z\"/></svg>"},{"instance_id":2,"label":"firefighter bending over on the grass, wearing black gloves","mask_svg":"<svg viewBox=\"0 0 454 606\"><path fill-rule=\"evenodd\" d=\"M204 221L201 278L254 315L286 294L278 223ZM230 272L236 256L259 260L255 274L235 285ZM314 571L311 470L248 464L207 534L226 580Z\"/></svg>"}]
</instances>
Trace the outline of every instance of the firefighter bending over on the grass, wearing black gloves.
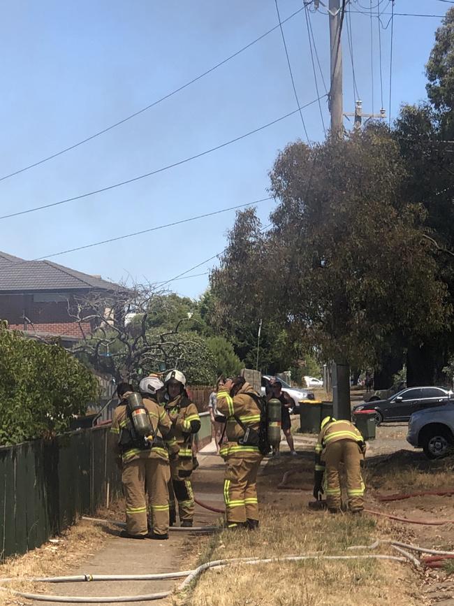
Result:
<instances>
[{"instance_id":1,"label":"firefighter bending over on the grass, wearing black gloves","mask_svg":"<svg viewBox=\"0 0 454 606\"><path fill-rule=\"evenodd\" d=\"M346 474L349 510L352 513L363 511L365 486L360 463L365 452L363 436L350 421L336 421L333 417L325 417L321 421L315 447L314 498L319 498L325 492L330 512L337 513L341 510L341 463L344 463Z\"/></svg>"}]
</instances>

